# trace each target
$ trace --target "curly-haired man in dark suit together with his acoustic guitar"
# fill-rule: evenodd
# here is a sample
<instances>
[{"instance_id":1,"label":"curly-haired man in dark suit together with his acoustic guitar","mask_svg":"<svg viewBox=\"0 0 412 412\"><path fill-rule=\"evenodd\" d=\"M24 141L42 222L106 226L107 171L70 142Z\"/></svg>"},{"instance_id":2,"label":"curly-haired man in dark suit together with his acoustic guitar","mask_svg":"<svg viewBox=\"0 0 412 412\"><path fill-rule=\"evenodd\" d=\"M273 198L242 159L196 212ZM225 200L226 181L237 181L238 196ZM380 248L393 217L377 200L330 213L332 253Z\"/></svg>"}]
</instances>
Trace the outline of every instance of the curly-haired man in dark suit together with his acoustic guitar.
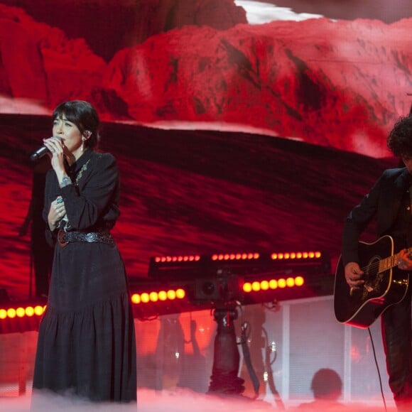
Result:
<instances>
[{"instance_id":1,"label":"curly-haired man in dark suit together with his acoustic guitar","mask_svg":"<svg viewBox=\"0 0 412 412\"><path fill-rule=\"evenodd\" d=\"M384 170L345 220L335 314L359 327L381 315L389 386L398 410L412 411L412 116L396 122L387 144L404 167ZM380 239L362 244L359 237L372 219Z\"/></svg>"}]
</instances>

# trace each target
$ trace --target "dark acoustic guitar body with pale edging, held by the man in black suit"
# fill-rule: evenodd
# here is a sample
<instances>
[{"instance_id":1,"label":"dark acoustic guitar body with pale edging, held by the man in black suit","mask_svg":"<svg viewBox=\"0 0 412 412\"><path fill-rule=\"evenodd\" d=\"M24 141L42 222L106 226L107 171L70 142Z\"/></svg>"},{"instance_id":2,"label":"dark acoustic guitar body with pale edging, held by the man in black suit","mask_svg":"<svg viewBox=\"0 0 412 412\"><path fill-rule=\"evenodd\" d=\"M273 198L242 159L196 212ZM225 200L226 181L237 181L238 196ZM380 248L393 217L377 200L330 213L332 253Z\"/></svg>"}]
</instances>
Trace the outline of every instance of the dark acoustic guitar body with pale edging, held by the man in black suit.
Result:
<instances>
[{"instance_id":1,"label":"dark acoustic guitar body with pale edging, held by the man in black suit","mask_svg":"<svg viewBox=\"0 0 412 412\"><path fill-rule=\"evenodd\" d=\"M345 279L345 267L340 256L335 273L334 310L338 322L367 328L390 305L406 295L409 273L396 266L394 241L384 236L374 243L359 242L359 266L364 271L364 287L350 291ZM391 264L379 269L381 261Z\"/></svg>"}]
</instances>

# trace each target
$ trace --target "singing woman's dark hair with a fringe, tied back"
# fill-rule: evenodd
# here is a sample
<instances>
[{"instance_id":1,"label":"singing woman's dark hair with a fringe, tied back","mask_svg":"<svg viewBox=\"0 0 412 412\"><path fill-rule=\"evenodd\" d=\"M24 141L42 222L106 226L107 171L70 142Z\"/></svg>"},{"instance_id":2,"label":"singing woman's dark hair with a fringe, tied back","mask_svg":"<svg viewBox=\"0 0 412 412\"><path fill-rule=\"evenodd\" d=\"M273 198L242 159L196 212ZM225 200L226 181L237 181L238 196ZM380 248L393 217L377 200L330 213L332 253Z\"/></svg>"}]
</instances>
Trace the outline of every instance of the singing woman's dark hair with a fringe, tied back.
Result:
<instances>
[{"instance_id":1,"label":"singing woman's dark hair with a fringe, tied back","mask_svg":"<svg viewBox=\"0 0 412 412\"><path fill-rule=\"evenodd\" d=\"M55 108L52 121L63 119L63 116L68 121L74 123L81 134L84 134L87 130L91 132L89 139L85 141L85 146L90 148L97 147L100 140L100 119L92 104L85 102L85 100L70 100L70 102L61 103Z\"/></svg>"}]
</instances>

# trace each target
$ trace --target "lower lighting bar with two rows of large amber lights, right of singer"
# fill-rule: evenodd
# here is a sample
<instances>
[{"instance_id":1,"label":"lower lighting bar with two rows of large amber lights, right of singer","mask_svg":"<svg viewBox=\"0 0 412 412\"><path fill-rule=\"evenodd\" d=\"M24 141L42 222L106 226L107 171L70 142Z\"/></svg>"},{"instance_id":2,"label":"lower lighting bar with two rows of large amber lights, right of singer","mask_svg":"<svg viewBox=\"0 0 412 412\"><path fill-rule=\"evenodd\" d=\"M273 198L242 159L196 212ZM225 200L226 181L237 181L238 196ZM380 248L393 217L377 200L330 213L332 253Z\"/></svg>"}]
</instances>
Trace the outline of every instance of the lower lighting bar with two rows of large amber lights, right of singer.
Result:
<instances>
[{"instance_id":1,"label":"lower lighting bar with two rows of large amber lights, right of singer","mask_svg":"<svg viewBox=\"0 0 412 412\"><path fill-rule=\"evenodd\" d=\"M167 313L182 313L222 307L230 303L249 305L291 298L305 289L305 277L298 273L273 276L215 276L191 281L143 280L130 283L136 318L147 319Z\"/></svg>"}]
</instances>

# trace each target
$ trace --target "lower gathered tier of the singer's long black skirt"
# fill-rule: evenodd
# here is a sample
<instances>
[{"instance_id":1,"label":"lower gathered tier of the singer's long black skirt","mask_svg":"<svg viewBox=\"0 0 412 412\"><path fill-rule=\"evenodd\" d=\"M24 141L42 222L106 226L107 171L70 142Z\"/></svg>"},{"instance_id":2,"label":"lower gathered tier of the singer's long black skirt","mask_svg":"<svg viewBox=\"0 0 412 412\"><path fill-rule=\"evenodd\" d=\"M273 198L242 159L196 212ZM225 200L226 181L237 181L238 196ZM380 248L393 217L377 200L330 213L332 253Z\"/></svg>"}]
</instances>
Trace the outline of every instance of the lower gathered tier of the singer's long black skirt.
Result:
<instances>
[{"instance_id":1,"label":"lower gathered tier of the singer's long black skirt","mask_svg":"<svg viewBox=\"0 0 412 412\"><path fill-rule=\"evenodd\" d=\"M135 339L128 293L81 310L47 308L40 322L34 391L136 403Z\"/></svg>"}]
</instances>

